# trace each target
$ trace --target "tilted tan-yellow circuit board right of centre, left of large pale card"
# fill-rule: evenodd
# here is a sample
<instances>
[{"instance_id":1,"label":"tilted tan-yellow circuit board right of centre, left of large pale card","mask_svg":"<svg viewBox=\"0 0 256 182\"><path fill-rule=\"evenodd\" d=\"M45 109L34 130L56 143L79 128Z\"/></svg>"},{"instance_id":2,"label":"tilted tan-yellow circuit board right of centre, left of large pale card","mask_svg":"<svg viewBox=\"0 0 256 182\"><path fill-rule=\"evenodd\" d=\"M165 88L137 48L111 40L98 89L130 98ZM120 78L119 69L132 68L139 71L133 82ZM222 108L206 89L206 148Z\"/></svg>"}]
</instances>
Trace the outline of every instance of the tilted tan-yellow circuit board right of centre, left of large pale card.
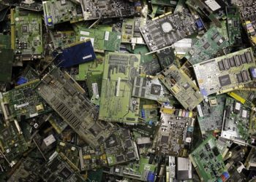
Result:
<instances>
[{"instance_id":1,"label":"tilted tan-yellow circuit board right of centre, left of large pale card","mask_svg":"<svg viewBox=\"0 0 256 182\"><path fill-rule=\"evenodd\" d=\"M159 74L159 79L185 109L192 111L203 101L203 96L196 84L175 65L165 68Z\"/></svg>"}]
</instances>

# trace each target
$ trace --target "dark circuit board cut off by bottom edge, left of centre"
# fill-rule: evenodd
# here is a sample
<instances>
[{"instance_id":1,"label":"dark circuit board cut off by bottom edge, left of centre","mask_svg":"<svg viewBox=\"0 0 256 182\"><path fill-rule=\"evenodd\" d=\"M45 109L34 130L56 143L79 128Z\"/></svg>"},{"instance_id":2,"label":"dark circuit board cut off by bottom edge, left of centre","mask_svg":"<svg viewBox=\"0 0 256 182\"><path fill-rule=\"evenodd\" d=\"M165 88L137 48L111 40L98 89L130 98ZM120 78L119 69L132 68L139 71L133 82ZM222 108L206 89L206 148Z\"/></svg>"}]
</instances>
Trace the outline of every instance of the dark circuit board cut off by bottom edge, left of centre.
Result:
<instances>
[{"instance_id":1,"label":"dark circuit board cut off by bottom edge, left of centre","mask_svg":"<svg viewBox=\"0 0 256 182\"><path fill-rule=\"evenodd\" d=\"M86 181L78 169L70 166L67 158L57 152L39 169L39 175L43 181Z\"/></svg>"}]
</instances>

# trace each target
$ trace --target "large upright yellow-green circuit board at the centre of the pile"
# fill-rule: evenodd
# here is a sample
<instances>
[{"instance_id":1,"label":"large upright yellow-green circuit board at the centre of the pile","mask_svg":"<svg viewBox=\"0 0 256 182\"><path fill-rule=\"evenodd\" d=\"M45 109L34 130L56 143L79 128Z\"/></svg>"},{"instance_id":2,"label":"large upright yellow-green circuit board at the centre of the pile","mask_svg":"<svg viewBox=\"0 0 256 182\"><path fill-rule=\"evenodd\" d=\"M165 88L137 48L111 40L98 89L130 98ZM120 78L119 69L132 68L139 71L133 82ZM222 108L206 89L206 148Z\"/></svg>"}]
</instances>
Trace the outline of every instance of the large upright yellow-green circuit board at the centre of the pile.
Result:
<instances>
[{"instance_id":1,"label":"large upright yellow-green circuit board at the centre of the pile","mask_svg":"<svg viewBox=\"0 0 256 182\"><path fill-rule=\"evenodd\" d=\"M132 97L132 84L139 74L139 65L140 55L106 53L99 119L108 122L139 122L140 99Z\"/></svg>"}]
</instances>

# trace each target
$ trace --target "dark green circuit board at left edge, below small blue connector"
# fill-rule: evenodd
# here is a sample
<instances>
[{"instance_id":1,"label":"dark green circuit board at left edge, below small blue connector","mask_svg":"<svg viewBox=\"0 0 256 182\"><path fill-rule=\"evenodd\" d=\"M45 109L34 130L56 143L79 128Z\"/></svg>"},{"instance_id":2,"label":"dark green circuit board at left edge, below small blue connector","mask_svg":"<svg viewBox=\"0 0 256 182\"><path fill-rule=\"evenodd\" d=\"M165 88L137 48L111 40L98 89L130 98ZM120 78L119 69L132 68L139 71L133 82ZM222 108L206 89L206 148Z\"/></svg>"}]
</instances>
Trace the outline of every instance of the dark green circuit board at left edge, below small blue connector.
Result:
<instances>
[{"instance_id":1,"label":"dark green circuit board at left edge, below small blue connector","mask_svg":"<svg viewBox=\"0 0 256 182\"><path fill-rule=\"evenodd\" d=\"M1 109L5 119L17 119L20 122L52 111L50 106L34 91L38 83L39 79L35 79L15 87L14 90L0 94Z\"/></svg>"}]
</instances>

